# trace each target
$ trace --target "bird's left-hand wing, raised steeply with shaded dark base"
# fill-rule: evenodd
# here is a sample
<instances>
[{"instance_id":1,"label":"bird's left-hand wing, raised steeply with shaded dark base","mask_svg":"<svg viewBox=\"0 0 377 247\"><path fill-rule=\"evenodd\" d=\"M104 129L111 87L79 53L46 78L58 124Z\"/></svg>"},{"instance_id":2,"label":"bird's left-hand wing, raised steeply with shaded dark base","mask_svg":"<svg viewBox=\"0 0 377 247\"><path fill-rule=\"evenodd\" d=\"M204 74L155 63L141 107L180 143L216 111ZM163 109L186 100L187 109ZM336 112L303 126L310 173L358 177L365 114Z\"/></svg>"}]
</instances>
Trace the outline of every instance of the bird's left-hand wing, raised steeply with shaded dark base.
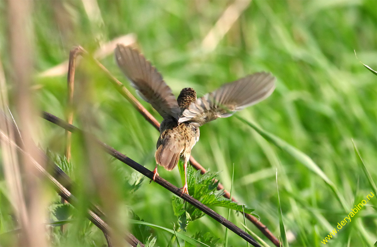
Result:
<instances>
[{"instance_id":1,"label":"bird's left-hand wing, raised steeply with shaded dark base","mask_svg":"<svg viewBox=\"0 0 377 247\"><path fill-rule=\"evenodd\" d=\"M172 90L143 54L137 49L118 44L115 48L115 60L138 94L164 119L170 116L178 119L181 110Z\"/></svg>"}]
</instances>

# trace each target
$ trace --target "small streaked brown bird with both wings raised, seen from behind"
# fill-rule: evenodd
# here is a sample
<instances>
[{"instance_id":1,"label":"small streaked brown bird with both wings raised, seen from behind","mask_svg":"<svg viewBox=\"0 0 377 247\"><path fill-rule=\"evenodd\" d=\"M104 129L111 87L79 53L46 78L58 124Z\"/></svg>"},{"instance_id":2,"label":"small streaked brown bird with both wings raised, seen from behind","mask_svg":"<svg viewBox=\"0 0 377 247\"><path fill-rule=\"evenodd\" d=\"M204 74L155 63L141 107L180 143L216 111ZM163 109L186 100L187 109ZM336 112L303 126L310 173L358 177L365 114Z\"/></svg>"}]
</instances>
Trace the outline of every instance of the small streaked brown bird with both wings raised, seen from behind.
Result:
<instances>
[{"instance_id":1,"label":"small streaked brown bird with both wings raised, seen from behind","mask_svg":"<svg viewBox=\"0 0 377 247\"><path fill-rule=\"evenodd\" d=\"M182 194L189 193L187 161L191 149L199 140L199 127L216 118L230 117L234 112L264 100L275 89L275 77L270 73L258 72L224 84L198 99L194 89L187 87L175 99L161 74L137 49L118 44L115 60L138 94L164 118L157 141L153 181L158 175L158 165L172 170L179 157L183 156L185 184Z\"/></svg>"}]
</instances>

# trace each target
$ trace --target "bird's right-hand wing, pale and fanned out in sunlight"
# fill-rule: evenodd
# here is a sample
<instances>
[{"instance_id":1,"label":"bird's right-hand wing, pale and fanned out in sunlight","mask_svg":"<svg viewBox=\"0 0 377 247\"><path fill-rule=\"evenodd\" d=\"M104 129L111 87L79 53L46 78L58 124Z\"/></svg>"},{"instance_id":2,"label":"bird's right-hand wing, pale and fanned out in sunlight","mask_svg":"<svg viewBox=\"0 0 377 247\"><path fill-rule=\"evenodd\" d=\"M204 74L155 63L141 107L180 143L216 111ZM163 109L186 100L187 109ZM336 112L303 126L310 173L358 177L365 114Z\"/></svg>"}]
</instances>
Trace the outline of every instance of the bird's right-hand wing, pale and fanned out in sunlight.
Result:
<instances>
[{"instance_id":1,"label":"bird's right-hand wing, pale and fanned out in sunlight","mask_svg":"<svg viewBox=\"0 0 377 247\"><path fill-rule=\"evenodd\" d=\"M275 79L270 73L258 72L227 83L191 103L178 123L192 121L202 126L216 118L230 117L270 96L275 89Z\"/></svg>"}]
</instances>

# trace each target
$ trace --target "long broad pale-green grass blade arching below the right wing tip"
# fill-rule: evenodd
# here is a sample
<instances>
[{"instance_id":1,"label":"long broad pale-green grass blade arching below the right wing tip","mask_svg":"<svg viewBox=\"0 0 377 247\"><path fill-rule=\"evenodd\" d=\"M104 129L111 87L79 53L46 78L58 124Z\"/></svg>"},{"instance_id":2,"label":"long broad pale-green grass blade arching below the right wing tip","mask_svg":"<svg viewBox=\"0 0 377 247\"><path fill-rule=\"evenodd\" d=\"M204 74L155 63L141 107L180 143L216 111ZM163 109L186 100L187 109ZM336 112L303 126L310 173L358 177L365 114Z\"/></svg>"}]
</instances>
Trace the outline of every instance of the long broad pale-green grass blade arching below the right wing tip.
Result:
<instances>
[{"instance_id":1,"label":"long broad pale-green grass blade arching below the right wing tip","mask_svg":"<svg viewBox=\"0 0 377 247\"><path fill-rule=\"evenodd\" d=\"M325 183L330 187L330 189L334 192L336 198L338 199L339 203L342 205L345 212L348 212L348 206L345 202L345 199L340 194L339 190L336 188L334 183L326 176L326 174L317 166L316 163L305 153L301 152L296 147L293 147L292 145L288 144L286 141L280 139L279 137L265 131L261 127L256 126L256 124L251 123L244 118L241 118L239 116L235 116L251 128L253 128L257 133L259 133L262 137L264 137L267 141L273 143L275 146L280 147L280 149L284 150L285 152L289 153L291 156L293 156L297 161L299 161L301 164L306 166L309 170L316 173L320 178L325 181Z\"/></svg>"}]
</instances>

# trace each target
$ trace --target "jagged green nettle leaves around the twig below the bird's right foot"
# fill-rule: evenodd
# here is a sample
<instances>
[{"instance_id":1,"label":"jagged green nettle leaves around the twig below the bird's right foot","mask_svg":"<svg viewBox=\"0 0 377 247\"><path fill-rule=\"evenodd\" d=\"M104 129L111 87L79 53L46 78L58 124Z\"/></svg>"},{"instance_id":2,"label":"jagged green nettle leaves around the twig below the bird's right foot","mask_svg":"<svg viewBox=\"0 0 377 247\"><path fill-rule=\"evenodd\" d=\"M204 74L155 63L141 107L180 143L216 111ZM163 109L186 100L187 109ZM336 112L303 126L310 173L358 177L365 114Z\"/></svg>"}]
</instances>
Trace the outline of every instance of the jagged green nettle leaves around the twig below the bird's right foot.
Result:
<instances>
[{"instance_id":1,"label":"jagged green nettle leaves around the twig below the bird's right foot","mask_svg":"<svg viewBox=\"0 0 377 247\"><path fill-rule=\"evenodd\" d=\"M182 183L184 183L183 161L179 161L178 168L181 173ZM238 210L245 213L251 213L254 209L237 204L230 199L224 198L224 190L217 190L219 181L215 181L218 173L210 172L201 174L200 170L195 171L192 166L187 167L187 185L189 194L206 206L225 207L228 209ZM173 196L172 198L174 214L178 218L178 224L182 230L186 230L190 221L199 219L205 215L204 212L184 203L181 198Z\"/></svg>"}]
</instances>

